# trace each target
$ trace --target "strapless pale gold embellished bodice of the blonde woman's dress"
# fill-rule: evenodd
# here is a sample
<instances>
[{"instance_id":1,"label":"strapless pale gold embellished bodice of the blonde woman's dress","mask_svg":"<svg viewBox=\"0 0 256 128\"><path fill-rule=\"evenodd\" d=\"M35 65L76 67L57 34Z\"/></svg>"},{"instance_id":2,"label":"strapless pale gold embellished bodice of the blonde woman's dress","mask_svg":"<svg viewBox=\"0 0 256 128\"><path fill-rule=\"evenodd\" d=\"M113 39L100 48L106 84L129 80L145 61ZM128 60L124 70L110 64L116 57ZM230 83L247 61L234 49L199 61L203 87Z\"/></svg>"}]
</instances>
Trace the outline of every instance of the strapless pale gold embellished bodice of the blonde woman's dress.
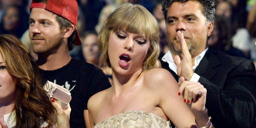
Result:
<instances>
[{"instance_id":1,"label":"strapless pale gold embellished bodice of the blonde woman's dress","mask_svg":"<svg viewBox=\"0 0 256 128\"><path fill-rule=\"evenodd\" d=\"M128 110L96 124L94 128L170 128L170 122L143 110Z\"/></svg>"}]
</instances>

